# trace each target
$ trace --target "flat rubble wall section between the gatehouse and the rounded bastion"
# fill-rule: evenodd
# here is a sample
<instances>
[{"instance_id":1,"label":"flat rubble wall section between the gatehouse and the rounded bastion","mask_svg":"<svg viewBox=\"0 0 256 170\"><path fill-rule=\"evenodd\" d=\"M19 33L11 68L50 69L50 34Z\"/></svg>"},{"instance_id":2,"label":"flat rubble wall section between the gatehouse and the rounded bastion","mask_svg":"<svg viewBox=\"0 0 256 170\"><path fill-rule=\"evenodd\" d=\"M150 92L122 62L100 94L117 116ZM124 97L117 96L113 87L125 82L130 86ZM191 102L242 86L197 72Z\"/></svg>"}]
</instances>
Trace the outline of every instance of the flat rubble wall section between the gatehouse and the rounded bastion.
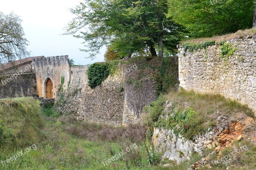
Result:
<instances>
[{"instance_id":1,"label":"flat rubble wall section between the gatehouse and the rounded bastion","mask_svg":"<svg viewBox=\"0 0 256 170\"><path fill-rule=\"evenodd\" d=\"M121 67L120 67L121 68ZM62 113L75 114L78 119L114 126L122 124L124 70L108 76L99 86L88 85L87 66L71 67L70 85L64 87L63 100L56 100L55 108ZM58 92L60 96L60 91Z\"/></svg>"}]
</instances>

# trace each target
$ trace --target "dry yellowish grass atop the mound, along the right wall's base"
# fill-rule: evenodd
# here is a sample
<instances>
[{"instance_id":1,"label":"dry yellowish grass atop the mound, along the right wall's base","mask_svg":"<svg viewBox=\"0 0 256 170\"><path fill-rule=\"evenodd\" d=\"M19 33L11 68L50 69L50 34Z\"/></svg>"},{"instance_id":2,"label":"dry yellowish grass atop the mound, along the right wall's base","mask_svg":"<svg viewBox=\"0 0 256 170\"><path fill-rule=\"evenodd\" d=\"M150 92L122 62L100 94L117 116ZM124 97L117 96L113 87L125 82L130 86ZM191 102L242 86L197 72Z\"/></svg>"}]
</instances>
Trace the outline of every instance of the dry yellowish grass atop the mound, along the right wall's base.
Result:
<instances>
[{"instance_id":1,"label":"dry yellowish grass atop the mound, along the right wall's base","mask_svg":"<svg viewBox=\"0 0 256 170\"><path fill-rule=\"evenodd\" d=\"M248 105L224 98L220 94L201 94L194 91L180 90L180 92L172 91L168 93L164 96L164 100L177 102L183 108L192 107L197 113L211 118L217 118L220 115L240 117L241 114L245 114L255 119L254 112Z\"/></svg>"}]
</instances>

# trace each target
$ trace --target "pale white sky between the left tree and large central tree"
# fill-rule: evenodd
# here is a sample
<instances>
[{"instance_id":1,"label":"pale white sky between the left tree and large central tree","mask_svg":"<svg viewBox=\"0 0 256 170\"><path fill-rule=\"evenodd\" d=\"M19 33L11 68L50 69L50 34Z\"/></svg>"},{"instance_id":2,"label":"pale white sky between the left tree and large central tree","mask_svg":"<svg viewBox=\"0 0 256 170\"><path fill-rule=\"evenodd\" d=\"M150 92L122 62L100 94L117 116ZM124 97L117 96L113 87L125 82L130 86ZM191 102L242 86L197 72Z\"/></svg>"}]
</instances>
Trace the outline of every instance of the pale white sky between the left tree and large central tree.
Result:
<instances>
[{"instance_id":1,"label":"pale white sky between the left tree and large central tree","mask_svg":"<svg viewBox=\"0 0 256 170\"><path fill-rule=\"evenodd\" d=\"M92 64L103 61L105 48L94 60L86 59L89 53L79 51L84 49L82 39L72 35L61 35L63 28L74 17L69 8L75 7L83 0L0 0L0 11L10 14L13 11L23 20L21 23L25 38L29 41L28 51L31 56L68 55L75 64Z\"/></svg>"}]
</instances>

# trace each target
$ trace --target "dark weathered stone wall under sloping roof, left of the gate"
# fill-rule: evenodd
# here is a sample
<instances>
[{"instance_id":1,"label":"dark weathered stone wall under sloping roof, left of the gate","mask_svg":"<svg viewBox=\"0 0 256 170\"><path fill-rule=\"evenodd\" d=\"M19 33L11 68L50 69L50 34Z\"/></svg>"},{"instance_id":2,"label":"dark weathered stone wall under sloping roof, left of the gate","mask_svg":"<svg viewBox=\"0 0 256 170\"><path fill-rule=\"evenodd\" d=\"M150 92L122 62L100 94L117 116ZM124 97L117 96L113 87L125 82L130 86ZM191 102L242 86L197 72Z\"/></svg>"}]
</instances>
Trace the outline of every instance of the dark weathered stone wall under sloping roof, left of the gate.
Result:
<instances>
[{"instance_id":1,"label":"dark weathered stone wall under sloping roof, left of the gate","mask_svg":"<svg viewBox=\"0 0 256 170\"><path fill-rule=\"evenodd\" d=\"M0 98L36 97L36 75L22 74L0 77Z\"/></svg>"}]
</instances>

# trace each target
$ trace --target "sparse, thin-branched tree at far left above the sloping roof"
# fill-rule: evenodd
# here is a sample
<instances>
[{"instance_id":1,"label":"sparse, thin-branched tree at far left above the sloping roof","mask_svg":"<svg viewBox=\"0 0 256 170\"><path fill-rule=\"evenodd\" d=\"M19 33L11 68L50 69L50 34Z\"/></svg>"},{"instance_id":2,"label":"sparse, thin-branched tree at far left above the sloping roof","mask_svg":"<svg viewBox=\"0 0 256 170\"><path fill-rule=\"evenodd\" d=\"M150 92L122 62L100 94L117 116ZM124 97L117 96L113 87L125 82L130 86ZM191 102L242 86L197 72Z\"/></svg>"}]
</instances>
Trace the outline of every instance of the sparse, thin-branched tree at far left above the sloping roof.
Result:
<instances>
[{"instance_id":1,"label":"sparse, thin-branched tree at far left above the sloping roof","mask_svg":"<svg viewBox=\"0 0 256 170\"><path fill-rule=\"evenodd\" d=\"M0 12L0 64L27 57L28 40L21 26L21 19L13 12Z\"/></svg>"}]
</instances>

